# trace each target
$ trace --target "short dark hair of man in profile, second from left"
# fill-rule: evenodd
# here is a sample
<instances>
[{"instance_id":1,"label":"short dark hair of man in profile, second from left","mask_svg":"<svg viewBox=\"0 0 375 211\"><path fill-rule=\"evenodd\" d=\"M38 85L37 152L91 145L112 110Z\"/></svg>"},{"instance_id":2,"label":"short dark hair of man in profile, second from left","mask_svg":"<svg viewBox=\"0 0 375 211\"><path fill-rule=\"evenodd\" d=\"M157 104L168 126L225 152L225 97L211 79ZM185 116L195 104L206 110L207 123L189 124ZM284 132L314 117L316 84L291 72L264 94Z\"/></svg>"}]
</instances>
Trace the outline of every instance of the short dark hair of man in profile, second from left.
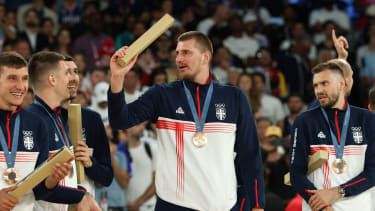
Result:
<instances>
[{"instance_id":1,"label":"short dark hair of man in profile, second from left","mask_svg":"<svg viewBox=\"0 0 375 211\"><path fill-rule=\"evenodd\" d=\"M31 57L29 74L34 89L39 89L44 83L43 76L56 72L60 61L65 61L65 56L53 51L40 51Z\"/></svg>"}]
</instances>

